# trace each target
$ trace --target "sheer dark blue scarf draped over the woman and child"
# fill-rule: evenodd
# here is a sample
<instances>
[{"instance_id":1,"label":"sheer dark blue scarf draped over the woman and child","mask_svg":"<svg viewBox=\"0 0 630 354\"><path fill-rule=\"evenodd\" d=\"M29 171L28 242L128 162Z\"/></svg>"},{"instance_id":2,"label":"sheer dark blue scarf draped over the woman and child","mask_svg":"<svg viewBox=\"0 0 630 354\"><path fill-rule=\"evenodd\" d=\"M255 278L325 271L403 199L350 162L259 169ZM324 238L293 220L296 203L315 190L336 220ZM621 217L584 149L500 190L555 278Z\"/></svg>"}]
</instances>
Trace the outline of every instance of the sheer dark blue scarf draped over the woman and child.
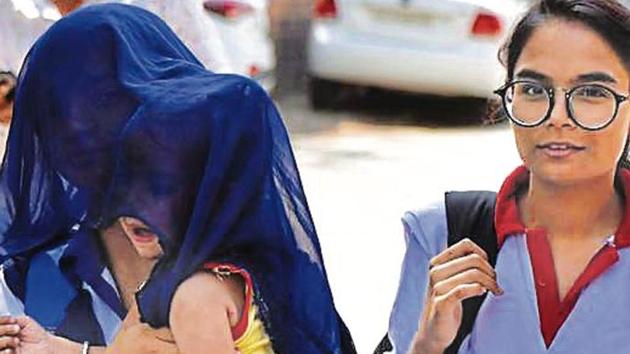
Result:
<instances>
[{"instance_id":1,"label":"sheer dark blue scarf draped over the woman and child","mask_svg":"<svg viewBox=\"0 0 630 354\"><path fill-rule=\"evenodd\" d=\"M137 294L144 321L168 325L176 287L227 260L251 273L277 352L342 352L349 337L287 132L257 84L206 71L159 18L124 5L60 20L19 81L3 256L134 216L165 250Z\"/></svg>"}]
</instances>

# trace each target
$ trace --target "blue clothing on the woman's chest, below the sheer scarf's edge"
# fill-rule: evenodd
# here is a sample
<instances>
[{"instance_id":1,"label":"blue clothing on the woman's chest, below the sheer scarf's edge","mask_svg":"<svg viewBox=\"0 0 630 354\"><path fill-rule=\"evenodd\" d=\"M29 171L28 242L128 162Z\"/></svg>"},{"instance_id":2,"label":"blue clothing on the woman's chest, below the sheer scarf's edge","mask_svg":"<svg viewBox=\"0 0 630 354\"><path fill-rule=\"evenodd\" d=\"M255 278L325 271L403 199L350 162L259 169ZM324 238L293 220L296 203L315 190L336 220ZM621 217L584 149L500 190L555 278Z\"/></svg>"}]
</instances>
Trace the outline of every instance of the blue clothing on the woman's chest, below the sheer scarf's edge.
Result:
<instances>
[{"instance_id":1,"label":"blue clothing on the woman's chest, below the sheer scarf's edge","mask_svg":"<svg viewBox=\"0 0 630 354\"><path fill-rule=\"evenodd\" d=\"M111 343L127 312L99 244L93 232L78 230L68 243L29 257L26 281L20 281L27 315L57 335L92 345ZM11 289L14 281L7 279Z\"/></svg>"}]
</instances>

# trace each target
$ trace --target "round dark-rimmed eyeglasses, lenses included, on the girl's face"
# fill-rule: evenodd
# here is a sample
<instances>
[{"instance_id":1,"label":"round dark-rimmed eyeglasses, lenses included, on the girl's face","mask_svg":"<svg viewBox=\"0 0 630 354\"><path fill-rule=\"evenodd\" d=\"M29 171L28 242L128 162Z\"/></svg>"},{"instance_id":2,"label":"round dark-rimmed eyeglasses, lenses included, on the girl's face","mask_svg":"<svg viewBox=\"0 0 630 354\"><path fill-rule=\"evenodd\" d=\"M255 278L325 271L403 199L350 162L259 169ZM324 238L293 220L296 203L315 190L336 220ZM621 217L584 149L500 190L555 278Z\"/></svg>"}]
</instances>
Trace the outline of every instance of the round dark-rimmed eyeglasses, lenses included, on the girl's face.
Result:
<instances>
[{"instance_id":1,"label":"round dark-rimmed eyeglasses, lenses included, on the girl's face","mask_svg":"<svg viewBox=\"0 0 630 354\"><path fill-rule=\"evenodd\" d=\"M599 130L617 116L619 105L628 99L600 84L584 84L564 91L569 118L580 128ZM536 81L513 81L494 91L514 124L535 127L549 119L555 105L555 89Z\"/></svg>"}]
</instances>

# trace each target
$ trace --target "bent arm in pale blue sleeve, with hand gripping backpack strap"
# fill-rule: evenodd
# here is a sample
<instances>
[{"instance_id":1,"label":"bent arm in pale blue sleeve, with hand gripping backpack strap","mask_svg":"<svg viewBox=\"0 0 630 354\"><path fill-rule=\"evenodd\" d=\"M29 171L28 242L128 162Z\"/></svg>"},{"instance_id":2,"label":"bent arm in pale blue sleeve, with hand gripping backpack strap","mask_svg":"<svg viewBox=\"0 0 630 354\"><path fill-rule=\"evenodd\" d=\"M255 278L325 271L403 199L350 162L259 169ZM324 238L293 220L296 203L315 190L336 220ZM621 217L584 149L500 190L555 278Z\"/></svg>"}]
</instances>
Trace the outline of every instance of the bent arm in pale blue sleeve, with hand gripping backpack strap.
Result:
<instances>
[{"instance_id":1,"label":"bent arm in pale blue sleeve, with hand gripping backpack strap","mask_svg":"<svg viewBox=\"0 0 630 354\"><path fill-rule=\"evenodd\" d=\"M465 239L447 248L444 203L403 219L407 251L389 336L396 353L442 353L461 323L463 299L499 294L485 252Z\"/></svg>"}]
</instances>

